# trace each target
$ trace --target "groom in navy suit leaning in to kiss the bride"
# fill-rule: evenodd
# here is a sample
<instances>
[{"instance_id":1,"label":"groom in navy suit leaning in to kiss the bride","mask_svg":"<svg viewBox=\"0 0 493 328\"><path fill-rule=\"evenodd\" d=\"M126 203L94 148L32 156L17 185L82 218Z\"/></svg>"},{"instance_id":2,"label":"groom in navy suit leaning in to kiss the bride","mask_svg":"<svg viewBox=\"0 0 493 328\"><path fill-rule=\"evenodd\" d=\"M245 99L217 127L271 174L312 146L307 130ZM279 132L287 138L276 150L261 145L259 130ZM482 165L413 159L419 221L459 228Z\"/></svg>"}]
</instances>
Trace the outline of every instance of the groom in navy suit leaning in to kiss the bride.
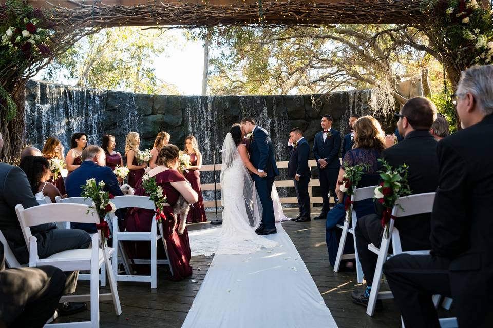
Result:
<instances>
[{"instance_id":1,"label":"groom in navy suit leaning in to kiss the bride","mask_svg":"<svg viewBox=\"0 0 493 328\"><path fill-rule=\"evenodd\" d=\"M279 171L274 158L271 137L266 130L257 126L251 117L241 121L241 128L250 139L250 162L259 172L263 173L262 177L252 174L255 188L262 203L262 223L255 232L259 235L275 234L277 229L274 223L271 192L274 177L279 175Z\"/></svg>"}]
</instances>

